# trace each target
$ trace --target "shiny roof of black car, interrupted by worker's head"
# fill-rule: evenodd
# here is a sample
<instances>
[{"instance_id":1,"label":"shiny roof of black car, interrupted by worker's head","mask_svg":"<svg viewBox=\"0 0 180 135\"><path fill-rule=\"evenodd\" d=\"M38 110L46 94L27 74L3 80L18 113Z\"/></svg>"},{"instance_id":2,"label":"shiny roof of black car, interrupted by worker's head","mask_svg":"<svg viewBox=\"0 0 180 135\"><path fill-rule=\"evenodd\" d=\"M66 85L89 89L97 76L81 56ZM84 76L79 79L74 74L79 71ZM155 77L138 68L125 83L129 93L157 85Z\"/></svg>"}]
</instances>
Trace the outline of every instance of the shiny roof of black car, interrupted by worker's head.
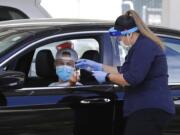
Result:
<instances>
[{"instance_id":1,"label":"shiny roof of black car, interrupted by worker's head","mask_svg":"<svg viewBox=\"0 0 180 135\"><path fill-rule=\"evenodd\" d=\"M0 22L0 29L2 28L25 28L28 29L36 29L36 28L61 28L64 26L68 27L75 26L75 27L83 27L83 26L95 26L90 27L96 29L98 26L99 28L109 28L113 26L114 22L109 20L98 20L98 19L68 19L68 18L38 18L38 19L18 19L18 20L9 20L9 21L1 21ZM57 26L57 27L56 27ZM176 37L180 37L180 30L162 27L162 26L154 26L150 25L149 28L157 33L157 34L165 34L165 35L172 35Z\"/></svg>"}]
</instances>

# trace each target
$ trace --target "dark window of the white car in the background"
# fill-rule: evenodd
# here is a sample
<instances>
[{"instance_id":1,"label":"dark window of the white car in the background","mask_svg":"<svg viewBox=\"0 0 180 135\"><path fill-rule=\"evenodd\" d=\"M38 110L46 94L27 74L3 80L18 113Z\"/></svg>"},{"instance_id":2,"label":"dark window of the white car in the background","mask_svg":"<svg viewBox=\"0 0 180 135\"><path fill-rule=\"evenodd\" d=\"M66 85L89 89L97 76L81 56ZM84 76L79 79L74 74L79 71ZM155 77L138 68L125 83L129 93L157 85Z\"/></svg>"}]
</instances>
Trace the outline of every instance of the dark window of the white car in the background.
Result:
<instances>
[{"instance_id":1,"label":"dark window of the white car in the background","mask_svg":"<svg viewBox=\"0 0 180 135\"><path fill-rule=\"evenodd\" d=\"M28 16L18 9L0 6L0 21L27 18Z\"/></svg>"}]
</instances>

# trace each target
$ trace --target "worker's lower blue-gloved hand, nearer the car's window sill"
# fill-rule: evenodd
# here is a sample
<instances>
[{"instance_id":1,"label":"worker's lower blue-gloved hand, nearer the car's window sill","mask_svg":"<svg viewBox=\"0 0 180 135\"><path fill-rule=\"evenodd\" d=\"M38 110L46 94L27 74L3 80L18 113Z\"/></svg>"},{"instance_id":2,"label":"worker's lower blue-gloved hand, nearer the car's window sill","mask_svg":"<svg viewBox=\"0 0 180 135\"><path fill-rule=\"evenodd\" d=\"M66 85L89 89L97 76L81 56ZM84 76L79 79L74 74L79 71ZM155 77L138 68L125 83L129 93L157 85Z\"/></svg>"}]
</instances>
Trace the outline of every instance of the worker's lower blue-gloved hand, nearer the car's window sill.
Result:
<instances>
[{"instance_id":1,"label":"worker's lower blue-gloved hand, nearer the car's window sill","mask_svg":"<svg viewBox=\"0 0 180 135\"><path fill-rule=\"evenodd\" d=\"M106 81L106 72L103 71L92 71L92 75L96 78L96 80L101 84Z\"/></svg>"}]
</instances>

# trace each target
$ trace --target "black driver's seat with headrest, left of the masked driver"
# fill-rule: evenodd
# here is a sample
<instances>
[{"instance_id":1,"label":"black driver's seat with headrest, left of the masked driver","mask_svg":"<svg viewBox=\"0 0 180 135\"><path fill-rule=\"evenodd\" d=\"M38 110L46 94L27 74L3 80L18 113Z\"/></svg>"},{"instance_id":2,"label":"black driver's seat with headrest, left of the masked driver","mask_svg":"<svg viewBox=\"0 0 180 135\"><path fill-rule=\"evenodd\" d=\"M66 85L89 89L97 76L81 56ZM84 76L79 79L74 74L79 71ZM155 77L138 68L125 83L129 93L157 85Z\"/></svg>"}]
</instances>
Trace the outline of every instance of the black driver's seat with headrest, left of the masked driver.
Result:
<instances>
[{"instance_id":1,"label":"black driver's seat with headrest, left of the masked driver","mask_svg":"<svg viewBox=\"0 0 180 135\"><path fill-rule=\"evenodd\" d=\"M54 57L50 50L40 50L36 55L35 69L37 74L37 86L48 86L57 81L54 66Z\"/></svg>"}]
</instances>

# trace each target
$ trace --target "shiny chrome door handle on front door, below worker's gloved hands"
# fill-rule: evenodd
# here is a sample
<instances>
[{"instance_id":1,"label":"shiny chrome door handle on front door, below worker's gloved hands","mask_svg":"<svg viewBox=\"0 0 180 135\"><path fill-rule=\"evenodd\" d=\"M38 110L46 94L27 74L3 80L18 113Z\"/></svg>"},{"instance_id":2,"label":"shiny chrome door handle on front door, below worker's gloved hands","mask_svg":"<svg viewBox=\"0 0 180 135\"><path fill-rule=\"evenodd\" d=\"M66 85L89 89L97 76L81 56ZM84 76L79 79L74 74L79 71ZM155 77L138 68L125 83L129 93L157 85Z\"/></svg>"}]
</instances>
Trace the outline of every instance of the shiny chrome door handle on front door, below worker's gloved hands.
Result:
<instances>
[{"instance_id":1,"label":"shiny chrome door handle on front door, below worker's gloved hands","mask_svg":"<svg viewBox=\"0 0 180 135\"><path fill-rule=\"evenodd\" d=\"M104 104L109 102L111 102L111 99L109 98L90 98L80 101L81 104Z\"/></svg>"}]
</instances>

